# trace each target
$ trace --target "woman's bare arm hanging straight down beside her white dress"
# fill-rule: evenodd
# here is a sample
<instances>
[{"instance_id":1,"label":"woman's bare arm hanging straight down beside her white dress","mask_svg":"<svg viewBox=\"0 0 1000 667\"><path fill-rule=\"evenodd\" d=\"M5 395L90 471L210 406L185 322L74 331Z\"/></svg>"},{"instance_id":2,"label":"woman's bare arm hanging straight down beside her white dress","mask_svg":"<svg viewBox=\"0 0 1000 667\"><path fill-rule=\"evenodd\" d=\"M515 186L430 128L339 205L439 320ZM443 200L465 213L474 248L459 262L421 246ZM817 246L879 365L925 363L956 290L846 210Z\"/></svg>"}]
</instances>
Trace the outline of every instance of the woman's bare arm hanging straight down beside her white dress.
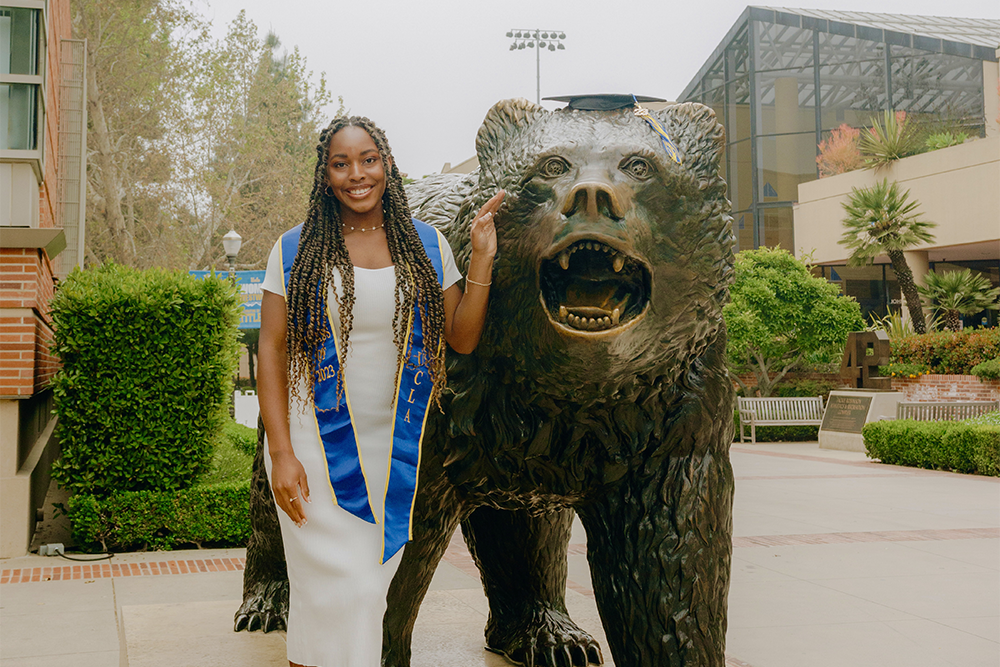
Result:
<instances>
[{"instance_id":1,"label":"woman's bare arm hanging straight down beside her white dress","mask_svg":"<svg viewBox=\"0 0 1000 667\"><path fill-rule=\"evenodd\" d=\"M302 504L309 502L309 483L305 469L292 452L288 431L286 326L285 299L264 290L257 352L257 400L271 454L271 490L278 507L296 524L304 526L306 515Z\"/></svg>"}]
</instances>

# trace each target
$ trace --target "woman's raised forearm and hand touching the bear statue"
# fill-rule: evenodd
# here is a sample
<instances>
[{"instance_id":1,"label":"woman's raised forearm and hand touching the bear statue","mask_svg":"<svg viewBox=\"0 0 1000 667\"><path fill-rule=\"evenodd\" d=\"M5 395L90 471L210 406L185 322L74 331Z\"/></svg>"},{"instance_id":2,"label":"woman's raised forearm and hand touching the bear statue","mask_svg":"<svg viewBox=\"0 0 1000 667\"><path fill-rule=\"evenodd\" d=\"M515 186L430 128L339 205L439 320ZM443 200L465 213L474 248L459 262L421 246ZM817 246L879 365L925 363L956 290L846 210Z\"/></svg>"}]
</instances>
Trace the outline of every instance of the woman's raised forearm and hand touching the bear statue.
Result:
<instances>
[{"instance_id":1,"label":"woman's raised forearm and hand touching the bear statue","mask_svg":"<svg viewBox=\"0 0 1000 667\"><path fill-rule=\"evenodd\" d=\"M444 291L444 337L460 354L469 354L479 344L490 298L493 257L497 254L497 232L493 218L506 193L501 190L483 204L472 221L472 257L465 277L465 293L458 285Z\"/></svg>"}]
</instances>

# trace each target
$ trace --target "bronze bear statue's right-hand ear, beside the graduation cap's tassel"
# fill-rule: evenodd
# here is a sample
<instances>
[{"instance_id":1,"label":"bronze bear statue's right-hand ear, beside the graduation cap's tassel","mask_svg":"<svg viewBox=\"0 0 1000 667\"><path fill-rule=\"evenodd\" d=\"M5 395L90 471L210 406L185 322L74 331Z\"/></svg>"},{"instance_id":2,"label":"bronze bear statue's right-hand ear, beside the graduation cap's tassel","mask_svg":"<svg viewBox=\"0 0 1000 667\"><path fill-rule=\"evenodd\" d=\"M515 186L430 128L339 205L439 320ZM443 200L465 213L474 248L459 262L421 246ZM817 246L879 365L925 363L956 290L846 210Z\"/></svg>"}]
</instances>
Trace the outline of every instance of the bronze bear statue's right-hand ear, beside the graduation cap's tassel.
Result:
<instances>
[{"instance_id":1,"label":"bronze bear statue's right-hand ear, beside the graduation cap's tassel","mask_svg":"<svg viewBox=\"0 0 1000 667\"><path fill-rule=\"evenodd\" d=\"M684 168L707 184L719 173L726 129L709 107L685 102L666 107L652 115L663 125L677 146Z\"/></svg>"}]
</instances>

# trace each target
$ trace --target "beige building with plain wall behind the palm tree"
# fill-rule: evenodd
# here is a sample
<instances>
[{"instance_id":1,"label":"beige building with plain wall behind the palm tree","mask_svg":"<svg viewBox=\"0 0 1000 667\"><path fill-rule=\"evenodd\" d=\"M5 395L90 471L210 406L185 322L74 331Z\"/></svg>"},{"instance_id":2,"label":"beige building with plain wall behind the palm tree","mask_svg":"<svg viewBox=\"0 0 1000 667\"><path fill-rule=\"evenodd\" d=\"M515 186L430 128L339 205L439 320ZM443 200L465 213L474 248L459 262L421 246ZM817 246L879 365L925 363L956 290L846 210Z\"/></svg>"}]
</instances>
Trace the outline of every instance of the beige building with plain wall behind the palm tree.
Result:
<instances>
[{"instance_id":1,"label":"beige building with plain wall behind the palm tree","mask_svg":"<svg viewBox=\"0 0 1000 667\"><path fill-rule=\"evenodd\" d=\"M1000 56L1000 50L998 50ZM985 138L898 160L883 169L861 169L802 183L794 206L797 256L809 254L824 277L854 296L866 313L884 314L902 305L887 257L871 266L847 266L843 204L853 188L896 181L920 203L923 219L937 223L934 242L905 253L918 283L928 271L964 268L1000 285L1000 73L984 63ZM990 85L990 84L993 85ZM905 309L903 309L905 312ZM963 318L966 325L996 326L994 311Z\"/></svg>"}]
</instances>

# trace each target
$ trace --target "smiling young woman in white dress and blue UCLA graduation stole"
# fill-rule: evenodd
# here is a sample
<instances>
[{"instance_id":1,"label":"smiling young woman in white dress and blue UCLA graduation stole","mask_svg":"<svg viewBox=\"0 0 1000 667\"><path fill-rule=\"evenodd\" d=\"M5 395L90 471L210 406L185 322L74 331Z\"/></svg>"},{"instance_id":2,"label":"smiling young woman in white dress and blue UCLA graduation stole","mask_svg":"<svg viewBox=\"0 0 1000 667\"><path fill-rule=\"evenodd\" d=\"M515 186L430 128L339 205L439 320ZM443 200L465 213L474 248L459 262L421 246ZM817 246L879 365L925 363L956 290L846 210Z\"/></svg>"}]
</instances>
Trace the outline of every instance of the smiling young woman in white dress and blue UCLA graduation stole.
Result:
<instances>
[{"instance_id":1,"label":"smiling young woman in white dress and blue UCLA graduation stole","mask_svg":"<svg viewBox=\"0 0 1000 667\"><path fill-rule=\"evenodd\" d=\"M465 290L444 237L410 218L385 135L322 134L304 224L263 283L259 398L290 586L292 667L377 667L386 592L409 539L424 417L445 342L475 349L504 193L472 223Z\"/></svg>"}]
</instances>

